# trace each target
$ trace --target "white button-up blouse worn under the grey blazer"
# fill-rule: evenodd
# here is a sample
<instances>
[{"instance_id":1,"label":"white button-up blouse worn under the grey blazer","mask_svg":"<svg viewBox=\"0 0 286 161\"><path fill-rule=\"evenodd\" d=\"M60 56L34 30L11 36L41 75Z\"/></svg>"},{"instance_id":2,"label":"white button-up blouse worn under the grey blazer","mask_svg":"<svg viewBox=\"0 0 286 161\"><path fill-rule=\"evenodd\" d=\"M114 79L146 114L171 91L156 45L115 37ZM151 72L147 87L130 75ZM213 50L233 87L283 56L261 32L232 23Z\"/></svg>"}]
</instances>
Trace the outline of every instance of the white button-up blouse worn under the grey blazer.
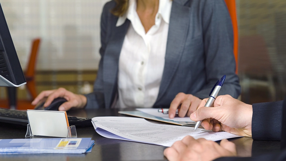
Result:
<instances>
[{"instance_id":1,"label":"white button-up blouse worn under the grey blazer","mask_svg":"<svg viewBox=\"0 0 286 161\"><path fill-rule=\"evenodd\" d=\"M116 23L121 26L126 18L131 21L119 56L117 108L152 107L165 65L172 1L159 1L155 25L147 33L136 7L136 0L130 0L128 11Z\"/></svg>"}]
</instances>

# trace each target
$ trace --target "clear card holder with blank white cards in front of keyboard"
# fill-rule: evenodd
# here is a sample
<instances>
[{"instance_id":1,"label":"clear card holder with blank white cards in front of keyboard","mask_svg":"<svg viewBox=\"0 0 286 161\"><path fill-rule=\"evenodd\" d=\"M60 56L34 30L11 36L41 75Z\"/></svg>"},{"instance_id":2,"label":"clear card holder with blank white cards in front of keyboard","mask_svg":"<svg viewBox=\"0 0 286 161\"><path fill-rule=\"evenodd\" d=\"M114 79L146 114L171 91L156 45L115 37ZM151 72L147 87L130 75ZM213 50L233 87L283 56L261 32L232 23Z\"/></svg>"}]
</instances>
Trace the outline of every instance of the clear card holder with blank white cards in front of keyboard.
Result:
<instances>
[{"instance_id":1,"label":"clear card holder with blank white cards in front of keyboard","mask_svg":"<svg viewBox=\"0 0 286 161\"><path fill-rule=\"evenodd\" d=\"M65 111L27 110L27 116L26 138L77 138Z\"/></svg>"}]
</instances>

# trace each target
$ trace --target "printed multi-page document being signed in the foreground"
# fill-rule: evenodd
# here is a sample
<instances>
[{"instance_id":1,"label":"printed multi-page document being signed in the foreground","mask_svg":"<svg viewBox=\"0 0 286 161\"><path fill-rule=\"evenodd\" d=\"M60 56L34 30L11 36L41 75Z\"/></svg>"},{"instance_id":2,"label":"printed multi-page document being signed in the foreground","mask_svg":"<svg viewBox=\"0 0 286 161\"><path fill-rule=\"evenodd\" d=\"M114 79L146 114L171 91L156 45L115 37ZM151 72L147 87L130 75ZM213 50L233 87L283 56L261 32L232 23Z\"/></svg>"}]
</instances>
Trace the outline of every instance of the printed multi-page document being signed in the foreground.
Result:
<instances>
[{"instance_id":1,"label":"printed multi-page document being signed in the foreground","mask_svg":"<svg viewBox=\"0 0 286 161\"><path fill-rule=\"evenodd\" d=\"M170 147L176 141L191 135L195 139L205 138L217 141L241 137L227 132L213 132L193 127L150 123L144 118L133 117L94 117L92 124L99 135L106 138L136 141Z\"/></svg>"}]
</instances>

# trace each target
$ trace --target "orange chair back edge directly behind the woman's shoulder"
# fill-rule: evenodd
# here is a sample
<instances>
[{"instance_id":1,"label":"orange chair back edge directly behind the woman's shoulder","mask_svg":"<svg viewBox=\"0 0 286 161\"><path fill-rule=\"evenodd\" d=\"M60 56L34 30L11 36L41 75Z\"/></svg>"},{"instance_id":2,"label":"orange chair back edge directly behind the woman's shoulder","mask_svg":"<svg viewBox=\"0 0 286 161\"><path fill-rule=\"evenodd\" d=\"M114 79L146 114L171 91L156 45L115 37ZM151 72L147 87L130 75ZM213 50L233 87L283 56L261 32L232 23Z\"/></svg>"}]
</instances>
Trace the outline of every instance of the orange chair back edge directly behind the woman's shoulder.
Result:
<instances>
[{"instance_id":1,"label":"orange chair back edge directly behind the woman's shoulder","mask_svg":"<svg viewBox=\"0 0 286 161\"><path fill-rule=\"evenodd\" d=\"M235 0L224 0L229 10L233 26L233 54L236 62L236 74L238 74L238 25L236 18Z\"/></svg>"}]
</instances>

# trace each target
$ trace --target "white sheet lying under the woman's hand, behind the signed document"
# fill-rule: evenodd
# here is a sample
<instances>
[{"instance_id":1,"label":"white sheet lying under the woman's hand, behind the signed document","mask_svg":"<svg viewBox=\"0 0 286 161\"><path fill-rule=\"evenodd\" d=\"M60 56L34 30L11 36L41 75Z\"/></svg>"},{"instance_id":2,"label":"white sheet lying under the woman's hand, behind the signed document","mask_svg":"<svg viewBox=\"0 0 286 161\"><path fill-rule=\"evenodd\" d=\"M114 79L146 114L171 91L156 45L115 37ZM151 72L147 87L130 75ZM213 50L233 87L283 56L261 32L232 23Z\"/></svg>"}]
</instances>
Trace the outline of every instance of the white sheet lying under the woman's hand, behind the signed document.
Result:
<instances>
[{"instance_id":1,"label":"white sheet lying under the woman's hand, behind the signed document","mask_svg":"<svg viewBox=\"0 0 286 161\"><path fill-rule=\"evenodd\" d=\"M163 114L162 112L158 112L158 109L154 108L138 108L136 109L137 111L141 111L143 113L147 113L149 115L161 117L167 120L172 120L172 121L185 121L185 122L193 122L194 124L196 123L195 121L192 121L189 117L174 117L174 118L169 118L168 114Z\"/></svg>"}]
</instances>

